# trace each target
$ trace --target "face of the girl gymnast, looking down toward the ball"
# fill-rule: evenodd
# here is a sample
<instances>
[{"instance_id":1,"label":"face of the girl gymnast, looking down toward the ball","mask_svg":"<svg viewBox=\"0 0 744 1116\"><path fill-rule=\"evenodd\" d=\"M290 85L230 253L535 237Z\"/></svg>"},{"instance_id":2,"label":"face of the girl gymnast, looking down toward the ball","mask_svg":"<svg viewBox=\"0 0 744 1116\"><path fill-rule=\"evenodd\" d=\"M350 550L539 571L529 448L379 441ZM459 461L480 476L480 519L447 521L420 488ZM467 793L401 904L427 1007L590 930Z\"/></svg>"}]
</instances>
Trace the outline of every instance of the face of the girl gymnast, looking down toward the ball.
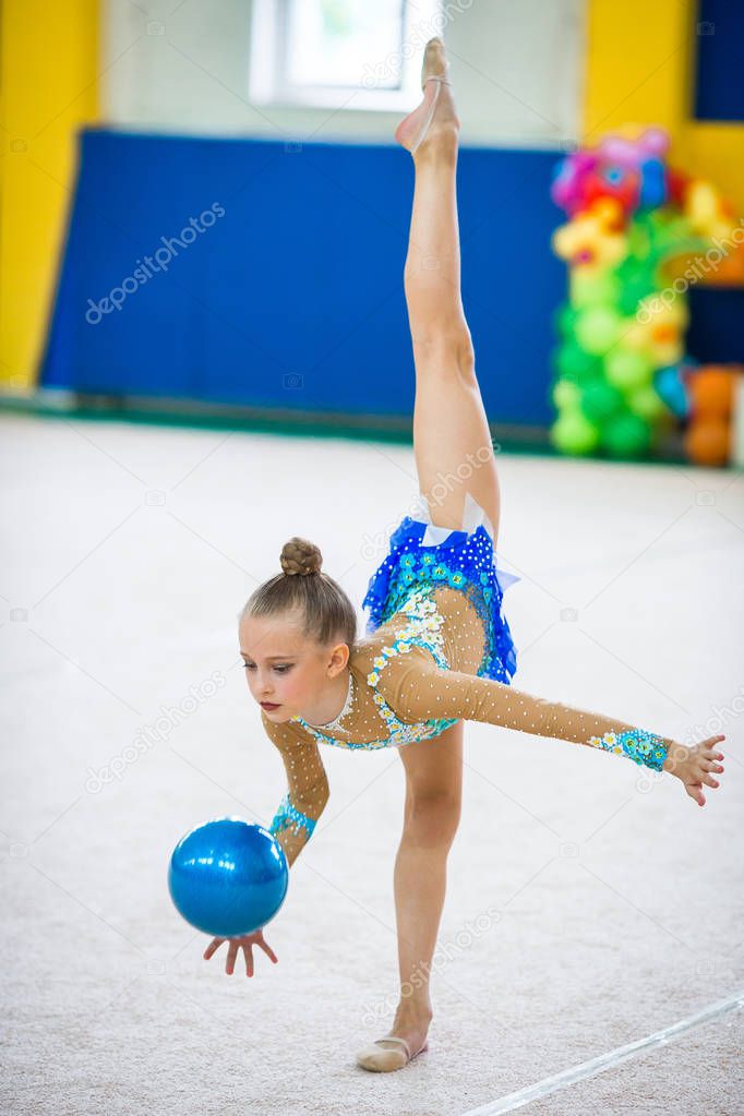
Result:
<instances>
[{"instance_id":1,"label":"face of the girl gymnast, looking down toward the ball","mask_svg":"<svg viewBox=\"0 0 744 1116\"><path fill-rule=\"evenodd\" d=\"M291 617L245 617L240 653L251 695L277 724L297 714L312 720L311 711L348 660L347 644L323 647L306 639Z\"/></svg>"}]
</instances>

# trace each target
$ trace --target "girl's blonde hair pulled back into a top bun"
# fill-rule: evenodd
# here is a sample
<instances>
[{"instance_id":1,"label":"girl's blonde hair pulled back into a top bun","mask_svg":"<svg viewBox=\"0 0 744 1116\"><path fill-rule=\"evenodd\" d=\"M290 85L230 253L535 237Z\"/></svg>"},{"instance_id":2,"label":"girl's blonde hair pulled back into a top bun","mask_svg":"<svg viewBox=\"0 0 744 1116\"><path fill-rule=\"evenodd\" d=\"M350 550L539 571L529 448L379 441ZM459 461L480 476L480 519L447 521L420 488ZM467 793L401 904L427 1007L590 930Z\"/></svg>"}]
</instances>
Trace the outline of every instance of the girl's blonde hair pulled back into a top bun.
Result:
<instances>
[{"instance_id":1,"label":"girl's blonde hair pulled back into a top bun","mask_svg":"<svg viewBox=\"0 0 744 1116\"><path fill-rule=\"evenodd\" d=\"M241 620L298 612L306 639L325 645L340 636L350 648L357 638L356 610L341 586L321 571L318 547L294 535L282 547L279 564L282 573L253 590Z\"/></svg>"}]
</instances>

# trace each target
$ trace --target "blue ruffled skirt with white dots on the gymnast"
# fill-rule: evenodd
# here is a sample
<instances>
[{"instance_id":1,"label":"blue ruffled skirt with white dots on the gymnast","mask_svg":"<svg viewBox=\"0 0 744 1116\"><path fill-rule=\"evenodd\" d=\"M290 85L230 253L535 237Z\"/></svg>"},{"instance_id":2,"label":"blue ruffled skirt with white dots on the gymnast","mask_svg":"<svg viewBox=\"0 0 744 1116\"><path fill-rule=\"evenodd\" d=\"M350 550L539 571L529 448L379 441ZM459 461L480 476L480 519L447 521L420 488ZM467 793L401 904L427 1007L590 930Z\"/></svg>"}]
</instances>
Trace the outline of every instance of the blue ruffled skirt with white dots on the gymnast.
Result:
<instances>
[{"instance_id":1,"label":"blue ruffled skirt with white dots on the gymnast","mask_svg":"<svg viewBox=\"0 0 744 1116\"><path fill-rule=\"evenodd\" d=\"M397 613L415 589L448 586L465 594L483 622L486 645L477 673L509 683L516 671L516 648L503 613L503 595L521 578L497 567L491 533L482 522L474 522L484 518L483 509L470 493L464 518L463 530L454 531L433 526L427 511L422 519L406 516L402 520L361 603L369 610L367 634Z\"/></svg>"}]
</instances>

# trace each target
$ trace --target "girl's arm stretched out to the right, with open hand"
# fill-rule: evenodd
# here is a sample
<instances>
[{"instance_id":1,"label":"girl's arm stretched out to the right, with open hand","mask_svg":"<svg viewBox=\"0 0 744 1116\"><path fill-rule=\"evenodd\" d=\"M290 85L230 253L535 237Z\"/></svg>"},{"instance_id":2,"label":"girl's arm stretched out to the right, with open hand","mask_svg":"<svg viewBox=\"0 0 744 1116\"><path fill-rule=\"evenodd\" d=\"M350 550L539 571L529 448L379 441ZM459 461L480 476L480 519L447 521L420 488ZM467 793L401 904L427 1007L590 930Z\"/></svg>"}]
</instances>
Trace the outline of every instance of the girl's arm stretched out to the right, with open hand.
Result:
<instances>
[{"instance_id":1,"label":"girl's arm stretched out to the right, with open hand","mask_svg":"<svg viewBox=\"0 0 744 1116\"><path fill-rule=\"evenodd\" d=\"M492 679L442 670L433 656L418 646L387 662L378 689L402 721L462 718L601 748L656 771L677 775L686 786L697 788L695 793L689 790L688 793L700 805L705 802L705 799L700 801L700 782L717 786L707 772L723 770L713 763L717 757L711 748L697 745L702 751L695 752L668 737L627 721L548 701ZM723 739L713 737L704 744ZM702 772L705 773L700 777Z\"/></svg>"}]
</instances>

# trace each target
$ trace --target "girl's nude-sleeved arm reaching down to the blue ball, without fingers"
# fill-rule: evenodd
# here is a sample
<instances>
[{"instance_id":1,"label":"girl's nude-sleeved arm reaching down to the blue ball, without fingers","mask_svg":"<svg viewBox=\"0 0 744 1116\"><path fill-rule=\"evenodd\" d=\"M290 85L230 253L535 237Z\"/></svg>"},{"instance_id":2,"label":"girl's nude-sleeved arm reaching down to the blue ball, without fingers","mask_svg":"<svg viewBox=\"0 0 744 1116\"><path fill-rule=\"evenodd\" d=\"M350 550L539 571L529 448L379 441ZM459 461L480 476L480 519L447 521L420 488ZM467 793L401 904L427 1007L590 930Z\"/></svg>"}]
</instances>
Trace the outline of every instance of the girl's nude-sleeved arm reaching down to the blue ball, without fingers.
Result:
<instances>
[{"instance_id":1,"label":"girl's nude-sleeved arm reaching down to the blue ball, without fingers","mask_svg":"<svg viewBox=\"0 0 744 1116\"><path fill-rule=\"evenodd\" d=\"M277 808L269 831L281 845L291 867L316 827L330 797L328 777L315 740L292 724L274 724L261 712L269 739L284 761L287 792Z\"/></svg>"}]
</instances>

